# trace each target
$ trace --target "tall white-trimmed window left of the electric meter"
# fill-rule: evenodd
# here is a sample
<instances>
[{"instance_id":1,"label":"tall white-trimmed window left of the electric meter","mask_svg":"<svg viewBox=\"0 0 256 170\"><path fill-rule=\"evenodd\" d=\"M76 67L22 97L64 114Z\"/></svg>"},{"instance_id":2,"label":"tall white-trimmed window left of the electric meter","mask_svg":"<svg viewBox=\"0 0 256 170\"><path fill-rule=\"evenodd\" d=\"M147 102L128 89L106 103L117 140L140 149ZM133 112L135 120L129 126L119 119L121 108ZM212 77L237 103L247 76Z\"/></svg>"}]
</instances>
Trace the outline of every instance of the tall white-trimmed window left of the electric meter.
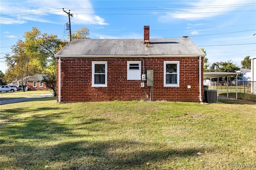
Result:
<instances>
[{"instance_id":1,"label":"tall white-trimmed window left of the electric meter","mask_svg":"<svg viewBox=\"0 0 256 170\"><path fill-rule=\"evenodd\" d=\"M92 87L107 87L107 61L92 61Z\"/></svg>"}]
</instances>

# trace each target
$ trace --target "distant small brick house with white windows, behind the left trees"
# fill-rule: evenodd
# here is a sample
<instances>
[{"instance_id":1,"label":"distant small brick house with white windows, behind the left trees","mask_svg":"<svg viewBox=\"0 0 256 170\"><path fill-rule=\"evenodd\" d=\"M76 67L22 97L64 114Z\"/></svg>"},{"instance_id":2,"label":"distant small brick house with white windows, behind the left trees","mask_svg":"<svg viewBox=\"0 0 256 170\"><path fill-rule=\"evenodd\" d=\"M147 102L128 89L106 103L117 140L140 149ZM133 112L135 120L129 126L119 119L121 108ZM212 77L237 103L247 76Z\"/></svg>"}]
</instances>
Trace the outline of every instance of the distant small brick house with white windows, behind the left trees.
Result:
<instances>
[{"instance_id":1,"label":"distant small brick house with white windows, behind the left trees","mask_svg":"<svg viewBox=\"0 0 256 170\"><path fill-rule=\"evenodd\" d=\"M43 74L35 74L33 76L28 76L23 79L23 84L25 85L27 79L27 87L30 90L47 90L43 83ZM17 86L22 85L22 81L17 81Z\"/></svg>"}]
</instances>

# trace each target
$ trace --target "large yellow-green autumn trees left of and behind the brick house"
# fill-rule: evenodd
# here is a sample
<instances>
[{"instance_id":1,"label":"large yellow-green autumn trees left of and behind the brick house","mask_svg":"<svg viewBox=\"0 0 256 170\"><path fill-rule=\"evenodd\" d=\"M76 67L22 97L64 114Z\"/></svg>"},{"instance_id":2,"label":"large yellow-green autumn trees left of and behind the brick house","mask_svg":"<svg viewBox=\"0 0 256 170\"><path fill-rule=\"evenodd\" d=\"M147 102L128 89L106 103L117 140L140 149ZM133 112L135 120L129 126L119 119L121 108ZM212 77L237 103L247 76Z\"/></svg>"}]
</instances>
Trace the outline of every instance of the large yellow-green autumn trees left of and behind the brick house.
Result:
<instances>
[{"instance_id":1,"label":"large yellow-green autumn trees left of and behind the brick house","mask_svg":"<svg viewBox=\"0 0 256 170\"><path fill-rule=\"evenodd\" d=\"M72 34L72 38L78 39L88 38L88 36L89 30L85 27L76 30ZM18 40L12 46L14 55L5 55L8 66L4 76L5 80L12 82L18 79L22 80L22 85L26 85L26 79L24 78L34 74L46 73L48 75L46 78L48 80L51 78L51 81L48 81L48 83L55 82L56 84L56 59L54 54L60 51L68 41L60 40L56 35L41 34L40 30L36 27L32 27L32 31L25 32L23 37L24 41ZM55 76L53 75L54 73ZM54 77L55 81L53 81ZM23 82L23 79L25 82ZM52 89L54 85L50 85L48 88ZM56 89L54 93L56 93Z\"/></svg>"}]
</instances>

